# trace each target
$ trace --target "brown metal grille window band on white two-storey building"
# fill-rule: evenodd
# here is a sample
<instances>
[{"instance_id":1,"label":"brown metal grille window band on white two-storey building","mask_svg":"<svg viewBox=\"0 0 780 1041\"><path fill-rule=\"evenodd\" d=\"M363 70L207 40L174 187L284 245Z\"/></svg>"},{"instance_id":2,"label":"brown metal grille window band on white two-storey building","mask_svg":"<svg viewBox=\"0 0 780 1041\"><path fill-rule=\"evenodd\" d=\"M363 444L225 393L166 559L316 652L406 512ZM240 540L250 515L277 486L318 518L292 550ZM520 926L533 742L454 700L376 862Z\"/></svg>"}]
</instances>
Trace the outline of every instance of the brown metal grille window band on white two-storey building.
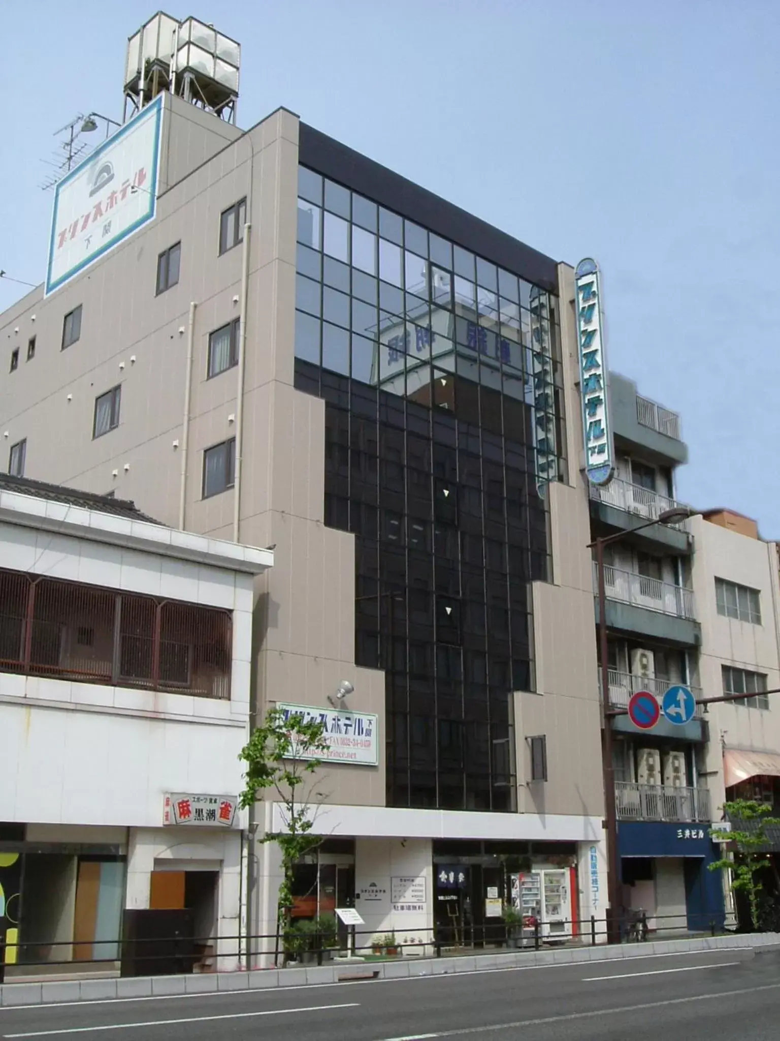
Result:
<instances>
[{"instance_id":1,"label":"brown metal grille window band on white two-storey building","mask_svg":"<svg viewBox=\"0 0 780 1041\"><path fill-rule=\"evenodd\" d=\"M230 612L0 570L0 670L230 697Z\"/></svg>"}]
</instances>

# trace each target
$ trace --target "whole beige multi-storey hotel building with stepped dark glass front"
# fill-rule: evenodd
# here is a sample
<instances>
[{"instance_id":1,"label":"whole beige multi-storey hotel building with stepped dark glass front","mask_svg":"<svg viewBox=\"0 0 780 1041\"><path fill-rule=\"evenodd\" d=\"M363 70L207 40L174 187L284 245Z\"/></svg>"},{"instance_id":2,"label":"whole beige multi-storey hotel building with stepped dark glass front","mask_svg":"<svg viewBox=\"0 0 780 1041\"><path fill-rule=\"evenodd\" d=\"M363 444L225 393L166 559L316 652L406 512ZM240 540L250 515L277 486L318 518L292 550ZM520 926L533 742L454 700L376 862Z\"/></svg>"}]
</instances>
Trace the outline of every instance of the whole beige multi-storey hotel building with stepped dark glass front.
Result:
<instances>
[{"instance_id":1,"label":"whole beige multi-storey hotel building with stepped dark glass front","mask_svg":"<svg viewBox=\"0 0 780 1041\"><path fill-rule=\"evenodd\" d=\"M301 913L480 942L514 893L567 935L606 892L571 269L285 109L239 134L146 100L153 219L86 262L62 218L50 291L0 316L29 357L0 390L10 468L278 547L257 709L333 737Z\"/></svg>"}]
</instances>

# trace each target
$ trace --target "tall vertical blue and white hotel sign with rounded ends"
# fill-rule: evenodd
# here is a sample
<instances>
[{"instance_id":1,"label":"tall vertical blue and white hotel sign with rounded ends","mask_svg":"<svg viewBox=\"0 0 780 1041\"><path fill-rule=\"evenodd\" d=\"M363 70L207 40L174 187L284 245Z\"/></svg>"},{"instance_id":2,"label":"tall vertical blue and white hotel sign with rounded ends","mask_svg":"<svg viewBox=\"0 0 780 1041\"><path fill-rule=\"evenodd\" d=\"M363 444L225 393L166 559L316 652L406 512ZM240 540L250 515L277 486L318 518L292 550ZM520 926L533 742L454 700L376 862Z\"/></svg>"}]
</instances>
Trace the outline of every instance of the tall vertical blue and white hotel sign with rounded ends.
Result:
<instances>
[{"instance_id":1,"label":"tall vertical blue and white hotel sign with rounded ends","mask_svg":"<svg viewBox=\"0 0 780 1041\"><path fill-rule=\"evenodd\" d=\"M608 484L615 474L615 448L607 396L606 352L599 268L590 257L574 272L579 337L579 390L586 473L592 484Z\"/></svg>"}]
</instances>

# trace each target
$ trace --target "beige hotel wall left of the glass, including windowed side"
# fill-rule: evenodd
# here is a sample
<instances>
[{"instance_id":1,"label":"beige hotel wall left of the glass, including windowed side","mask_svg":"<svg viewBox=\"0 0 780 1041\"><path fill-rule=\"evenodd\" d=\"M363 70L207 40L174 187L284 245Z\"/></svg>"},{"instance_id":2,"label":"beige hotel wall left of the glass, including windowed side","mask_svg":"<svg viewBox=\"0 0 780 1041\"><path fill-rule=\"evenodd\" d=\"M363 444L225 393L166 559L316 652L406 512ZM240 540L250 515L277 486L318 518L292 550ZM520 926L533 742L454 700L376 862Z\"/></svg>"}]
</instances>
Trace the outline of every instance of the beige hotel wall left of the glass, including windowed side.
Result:
<instances>
[{"instance_id":1,"label":"beige hotel wall left of the glass, including windowed side","mask_svg":"<svg viewBox=\"0 0 780 1041\"><path fill-rule=\"evenodd\" d=\"M280 109L225 148L235 131L183 104L175 100L163 124L168 179L182 179L160 196L156 219L47 300L36 290L3 316L0 342L23 342L22 359L28 336L37 336L35 358L0 385L6 451L26 436L28 477L114 490L178 526L193 301L184 527L233 537L235 492L204 500L201 489L203 451L236 432L238 371L208 379L207 359L209 333L241 312L243 247L219 256L218 234L220 212L245 196L252 230L239 538L277 545L275 568L258 586L260 704L326 706L339 681L349 680L349 707L380 717L382 761L329 764L321 787L336 803L384 805L384 675L355 666L354 538L322 523L324 405L292 386L297 119ZM190 163L196 169L183 176ZM156 297L157 256L179 240L179 284ZM81 337L60 351L62 318L77 304ZM95 397L116 383L120 426L93 440Z\"/></svg>"}]
</instances>

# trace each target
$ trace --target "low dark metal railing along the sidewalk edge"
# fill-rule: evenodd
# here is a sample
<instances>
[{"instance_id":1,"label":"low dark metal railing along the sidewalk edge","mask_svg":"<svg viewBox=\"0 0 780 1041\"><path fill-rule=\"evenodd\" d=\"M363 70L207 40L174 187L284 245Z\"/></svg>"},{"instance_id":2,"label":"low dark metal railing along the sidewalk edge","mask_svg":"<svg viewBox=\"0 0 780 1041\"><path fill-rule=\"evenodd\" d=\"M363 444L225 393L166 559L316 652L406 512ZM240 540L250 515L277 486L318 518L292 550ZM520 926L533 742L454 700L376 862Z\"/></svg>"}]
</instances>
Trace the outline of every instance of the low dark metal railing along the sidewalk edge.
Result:
<instances>
[{"instance_id":1,"label":"low dark metal railing along the sidewalk edge","mask_svg":"<svg viewBox=\"0 0 780 1041\"><path fill-rule=\"evenodd\" d=\"M370 969L371 962L393 958L445 958L464 951L478 953L480 949L540 950L546 946L595 946L606 942L643 941L664 935L716 936L723 932L726 932L723 911L702 912L698 915L654 915L641 909L624 909L615 922L609 924L605 917L595 915L576 919L556 918L549 922L526 915L518 921L497 918L478 924L458 923L415 930L414 940L404 937L396 939L393 934L378 936L375 931L358 930L355 926L336 937L333 934L318 936L312 933L305 942L297 938L293 941L289 936L285 940L284 936L278 934L249 937L237 934L212 937L178 935L147 937L142 940L122 938L93 944L93 957L88 966L90 970L96 966L103 966L112 974L122 976L178 975L193 971L215 971L225 960L233 963L238 961L243 969L255 968L262 960L267 963L263 967L294 968L322 965L348 956L349 962L345 964L349 964L353 969L356 957L362 959ZM46 945L51 950L56 950L59 957L25 957L17 962L17 955L23 946L6 948L0 938L0 983L25 982L41 966L46 966L48 970L52 967L78 970L79 962L72 959L78 944L73 941L54 940ZM103 951L95 949L101 946ZM108 951L109 957L105 956L105 951ZM11 974L6 971L9 961L12 963Z\"/></svg>"}]
</instances>

